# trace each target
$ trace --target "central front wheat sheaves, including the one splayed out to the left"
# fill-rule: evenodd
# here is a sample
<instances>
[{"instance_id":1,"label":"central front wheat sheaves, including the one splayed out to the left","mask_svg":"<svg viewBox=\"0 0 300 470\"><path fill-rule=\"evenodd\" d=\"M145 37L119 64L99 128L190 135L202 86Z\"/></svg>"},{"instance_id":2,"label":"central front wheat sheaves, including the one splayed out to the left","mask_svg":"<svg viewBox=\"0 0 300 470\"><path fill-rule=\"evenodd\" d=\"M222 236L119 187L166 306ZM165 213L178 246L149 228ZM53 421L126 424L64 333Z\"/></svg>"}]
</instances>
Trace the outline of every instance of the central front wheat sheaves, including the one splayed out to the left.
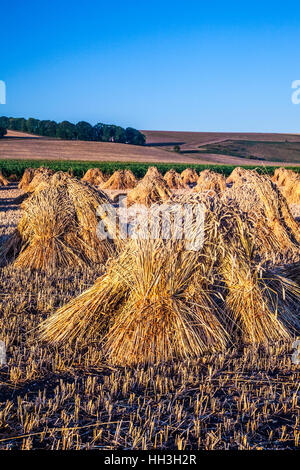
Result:
<instances>
[{"instance_id":1,"label":"central front wheat sheaves, including the one splayed out to the left","mask_svg":"<svg viewBox=\"0 0 300 470\"><path fill-rule=\"evenodd\" d=\"M131 241L91 289L42 324L41 337L57 343L100 335L108 360L122 365L223 349L228 338L210 293L199 280L199 292L190 291L196 271L197 254L176 243Z\"/></svg>"}]
</instances>

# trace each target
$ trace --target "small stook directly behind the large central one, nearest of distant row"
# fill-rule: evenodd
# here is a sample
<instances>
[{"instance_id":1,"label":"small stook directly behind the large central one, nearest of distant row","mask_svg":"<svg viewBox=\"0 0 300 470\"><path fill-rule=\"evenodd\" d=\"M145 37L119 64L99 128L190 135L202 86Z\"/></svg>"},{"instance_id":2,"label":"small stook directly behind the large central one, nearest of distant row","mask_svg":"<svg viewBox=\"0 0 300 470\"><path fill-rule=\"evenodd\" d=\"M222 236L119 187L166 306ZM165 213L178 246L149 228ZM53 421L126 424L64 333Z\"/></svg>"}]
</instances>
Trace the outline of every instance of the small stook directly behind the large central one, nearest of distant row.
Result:
<instances>
[{"instance_id":1,"label":"small stook directly behind the large central one, nearest of distant row","mask_svg":"<svg viewBox=\"0 0 300 470\"><path fill-rule=\"evenodd\" d=\"M162 176L146 175L132 189L127 196L127 204L141 204L144 206L151 206L152 204L160 201L166 201L172 195L172 192Z\"/></svg>"}]
</instances>

